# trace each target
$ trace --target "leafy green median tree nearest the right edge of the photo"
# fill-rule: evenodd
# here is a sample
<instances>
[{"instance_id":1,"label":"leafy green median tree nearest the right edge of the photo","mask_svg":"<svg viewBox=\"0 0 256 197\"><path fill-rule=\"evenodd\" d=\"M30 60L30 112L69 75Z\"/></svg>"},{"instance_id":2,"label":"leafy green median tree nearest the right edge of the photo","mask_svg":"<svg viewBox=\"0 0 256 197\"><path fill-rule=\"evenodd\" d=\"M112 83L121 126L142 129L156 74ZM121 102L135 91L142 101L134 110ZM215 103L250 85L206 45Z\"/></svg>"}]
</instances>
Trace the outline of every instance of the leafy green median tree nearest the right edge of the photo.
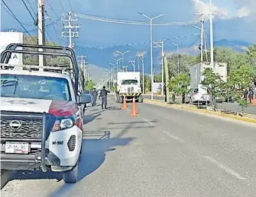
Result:
<instances>
[{"instance_id":1,"label":"leafy green median tree nearest the right edge of the photo","mask_svg":"<svg viewBox=\"0 0 256 197\"><path fill-rule=\"evenodd\" d=\"M242 112L248 106L246 98L244 98L244 93L251 87L252 81L254 79L254 69L251 65L243 65L240 68L232 71L228 81L233 87L237 87L234 90L235 100L238 101L241 106Z\"/></svg>"}]
</instances>

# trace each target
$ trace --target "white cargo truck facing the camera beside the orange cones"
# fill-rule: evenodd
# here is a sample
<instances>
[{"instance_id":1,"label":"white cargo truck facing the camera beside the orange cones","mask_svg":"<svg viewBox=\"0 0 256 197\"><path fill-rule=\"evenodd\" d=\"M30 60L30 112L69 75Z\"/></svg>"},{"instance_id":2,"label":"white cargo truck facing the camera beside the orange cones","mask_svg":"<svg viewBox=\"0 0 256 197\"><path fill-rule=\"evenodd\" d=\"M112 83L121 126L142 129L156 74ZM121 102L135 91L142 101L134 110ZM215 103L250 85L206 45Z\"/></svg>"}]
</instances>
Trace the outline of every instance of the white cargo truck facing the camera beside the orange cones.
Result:
<instances>
[{"instance_id":1,"label":"white cargo truck facing the camera beside the orange cones","mask_svg":"<svg viewBox=\"0 0 256 197\"><path fill-rule=\"evenodd\" d=\"M124 97L126 97L127 100L135 98L138 102L142 102L140 72L118 72L115 100L117 103L123 103Z\"/></svg>"}]
</instances>

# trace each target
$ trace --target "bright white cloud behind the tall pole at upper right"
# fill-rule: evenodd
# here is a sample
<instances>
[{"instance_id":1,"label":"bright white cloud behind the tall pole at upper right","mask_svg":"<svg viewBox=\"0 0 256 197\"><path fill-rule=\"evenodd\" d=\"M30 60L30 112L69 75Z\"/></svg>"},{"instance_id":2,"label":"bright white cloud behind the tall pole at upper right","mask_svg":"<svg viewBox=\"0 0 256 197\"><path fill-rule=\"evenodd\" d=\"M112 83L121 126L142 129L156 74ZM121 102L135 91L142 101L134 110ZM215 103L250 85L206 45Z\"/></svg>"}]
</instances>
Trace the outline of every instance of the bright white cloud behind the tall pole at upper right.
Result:
<instances>
[{"instance_id":1,"label":"bright white cloud behind the tall pole at upper right","mask_svg":"<svg viewBox=\"0 0 256 197\"><path fill-rule=\"evenodd\" d=\"M204 14L206 18L209 17L209 3L203 2L202 0L192 0L194 3L194 9L196 14ZM230 11L226 8L219 8L212 4L213 17L229 18Z\"/></svg>"}]
</instances>

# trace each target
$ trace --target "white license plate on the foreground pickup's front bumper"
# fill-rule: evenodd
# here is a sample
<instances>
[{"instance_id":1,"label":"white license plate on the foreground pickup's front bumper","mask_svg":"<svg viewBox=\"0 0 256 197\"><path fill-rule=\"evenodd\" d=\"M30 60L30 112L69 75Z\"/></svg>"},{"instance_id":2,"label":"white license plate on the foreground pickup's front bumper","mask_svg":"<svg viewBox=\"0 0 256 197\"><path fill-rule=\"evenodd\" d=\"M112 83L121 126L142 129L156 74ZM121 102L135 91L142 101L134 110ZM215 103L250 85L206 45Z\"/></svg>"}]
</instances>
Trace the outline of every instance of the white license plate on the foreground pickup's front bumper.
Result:
<instances>
[{"instance_id":1,"label":"white license plate on the foreground pickup's front bumper","mask_svg":"<svg viewBox=\"0 0 256 197\"><path fill-rule=\"evenodd\" d=\"M29 151L28 142L6 141L5 143L5 153L28 154L28 151Z\"/></svg>"}]
</instances>

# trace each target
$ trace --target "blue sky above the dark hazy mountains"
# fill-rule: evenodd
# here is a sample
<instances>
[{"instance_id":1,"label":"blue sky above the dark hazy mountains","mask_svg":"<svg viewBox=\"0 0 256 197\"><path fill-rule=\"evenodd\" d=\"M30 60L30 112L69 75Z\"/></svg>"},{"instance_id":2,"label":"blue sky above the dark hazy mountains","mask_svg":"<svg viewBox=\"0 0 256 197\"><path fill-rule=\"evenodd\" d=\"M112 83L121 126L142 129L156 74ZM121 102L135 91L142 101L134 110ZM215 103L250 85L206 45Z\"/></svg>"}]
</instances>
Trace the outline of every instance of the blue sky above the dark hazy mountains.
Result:
<instances>
[{"instance_id":1,"label":"blue sky above the dark hazy mountains","mask_svg":"<svg viewBox=\"0 0 256 197\"><path fill-rule=\"evenodd\" d=\"M26 30L32 35L37 33L33 18L21 0L4 0L11 11L18 17ZM72 11L76 14L87 14L96 17L112 18L125 21L145 21L146 17L138 11L148 15L157 16L156 23L172 23L196 21L199 14L209 18L209 0L44 0L47 18L46 24L56 21L64 12ZM61 2L60 2L61 1ZM24 0L34 18L37 13L36 0ZM28 3L29 2L29 3ZM214 14L214 40L241 40L256 42L256 1L255 0L212 0ZM31 8L30 7L33 8ZM1 8L2 30L14 28L22 30L20 24L11 17L5 9ZM79 38L74 40L75 46L106 47L149 41L148 26L134 24L110 24L102 21L92 21L79 17ZM198 24L199 25L199 24ZM206 32L209 26L206 23ZM34 30L34 31L33 31ZM56 43L67 45L67 39L61 37L62 23L47 28L47 39ZM199 30L191 25L154 27L154 40L183 37ZM177 40L189 47L197 37Z\"/></svg>"}]
</instances>

